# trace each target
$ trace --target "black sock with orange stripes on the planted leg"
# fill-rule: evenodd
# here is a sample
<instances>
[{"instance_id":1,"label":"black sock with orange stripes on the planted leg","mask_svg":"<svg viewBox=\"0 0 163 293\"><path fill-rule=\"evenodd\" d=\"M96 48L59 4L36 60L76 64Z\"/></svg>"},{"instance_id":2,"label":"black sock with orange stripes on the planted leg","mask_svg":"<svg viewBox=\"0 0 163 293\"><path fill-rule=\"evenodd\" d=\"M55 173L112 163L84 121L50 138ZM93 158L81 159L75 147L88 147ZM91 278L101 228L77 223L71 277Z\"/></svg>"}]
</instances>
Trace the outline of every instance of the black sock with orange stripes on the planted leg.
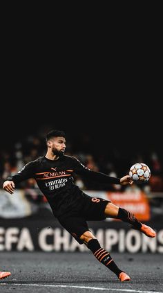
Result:
<instances>
[{"instance_id":1,"label":"black sock with orange stripes on the planted leg","mask_svg":"<svg viewBox=\"0 0 163 293\"><path fill-rule=\"evenodd\" d=\"M115 265L115 262L113 261L111 255L108 253L108 251L106 251L99 245L97 239L91 239L88 242L87 247L93 252L95 258L97 258L100 263L108 267L108 269L111 269L111 271L115 273L117 277L119 276L122 270L119 269L117 265Z\"/></svg>"}]
</instances>

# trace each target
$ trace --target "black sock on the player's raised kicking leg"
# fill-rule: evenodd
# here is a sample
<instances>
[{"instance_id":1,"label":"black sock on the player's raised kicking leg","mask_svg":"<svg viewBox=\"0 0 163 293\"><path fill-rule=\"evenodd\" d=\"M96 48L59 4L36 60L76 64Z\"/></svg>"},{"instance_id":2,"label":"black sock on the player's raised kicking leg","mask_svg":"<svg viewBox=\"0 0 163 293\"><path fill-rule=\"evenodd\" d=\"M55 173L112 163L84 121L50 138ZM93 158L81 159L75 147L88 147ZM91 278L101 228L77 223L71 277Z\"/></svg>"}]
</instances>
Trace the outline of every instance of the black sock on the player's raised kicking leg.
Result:
<instances>
[{"instance_id":1,"label":"black sock on the player's raised kicking leg","mask_svg":"<svg viewBox=\"0 0 163 293\"><path fill-rule=\"evenodd\" d=\"M132 224L136 229L140 229L142 227L141 222L137 221L135 215L129 211L126 211L124 208L119 208L117 219Z\"/></svg>"}]
</instances>

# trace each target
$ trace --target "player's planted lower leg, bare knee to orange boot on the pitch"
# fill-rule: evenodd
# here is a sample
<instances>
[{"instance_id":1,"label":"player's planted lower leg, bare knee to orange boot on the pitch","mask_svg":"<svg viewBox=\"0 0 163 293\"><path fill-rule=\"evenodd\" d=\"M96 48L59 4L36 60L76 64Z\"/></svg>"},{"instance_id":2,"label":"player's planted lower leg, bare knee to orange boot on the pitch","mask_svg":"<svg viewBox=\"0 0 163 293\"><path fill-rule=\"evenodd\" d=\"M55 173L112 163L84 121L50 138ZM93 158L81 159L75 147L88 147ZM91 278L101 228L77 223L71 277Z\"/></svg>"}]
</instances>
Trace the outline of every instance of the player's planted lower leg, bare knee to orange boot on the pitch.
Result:
<instances>
[{"instance_id":1,"label":"player's planted lower leg, bare knee to orange boot on the pitch","mask_svg":"<svg viewBox=\"0 0 163 293\"><path fill-rule=\"evenodd\" d=\"M99 242L95 236L93 236L93 233L86 231L80 236L80 239L83 240L88 249L93 252L95 258L97 258L100 263L115 273L120 281L124 282L131 280L131 278L125 272L117 267L108 251L99 245Z\"/></svg>"}]
</instances>

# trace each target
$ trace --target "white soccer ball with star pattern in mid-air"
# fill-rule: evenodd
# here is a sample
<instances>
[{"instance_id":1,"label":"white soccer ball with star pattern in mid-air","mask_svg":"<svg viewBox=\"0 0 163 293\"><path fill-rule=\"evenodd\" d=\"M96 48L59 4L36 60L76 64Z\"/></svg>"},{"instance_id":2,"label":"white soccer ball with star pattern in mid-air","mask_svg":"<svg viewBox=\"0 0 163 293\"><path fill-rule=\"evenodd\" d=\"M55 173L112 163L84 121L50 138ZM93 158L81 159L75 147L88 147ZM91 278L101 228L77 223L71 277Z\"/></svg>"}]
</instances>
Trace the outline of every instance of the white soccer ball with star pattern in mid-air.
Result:
<instances>
[{"instance_id":1,"label":"white soccer ball with star pattern in mid-air","mask_svg":"<svg viewBox=\"0 0 163 293\"><path fill-rule=\"evenodd\" d=\"M129 176L133 181L147 182L151 177L151 170L145 163L135 163L130 168Z\"/></svg>"}]
</instances>

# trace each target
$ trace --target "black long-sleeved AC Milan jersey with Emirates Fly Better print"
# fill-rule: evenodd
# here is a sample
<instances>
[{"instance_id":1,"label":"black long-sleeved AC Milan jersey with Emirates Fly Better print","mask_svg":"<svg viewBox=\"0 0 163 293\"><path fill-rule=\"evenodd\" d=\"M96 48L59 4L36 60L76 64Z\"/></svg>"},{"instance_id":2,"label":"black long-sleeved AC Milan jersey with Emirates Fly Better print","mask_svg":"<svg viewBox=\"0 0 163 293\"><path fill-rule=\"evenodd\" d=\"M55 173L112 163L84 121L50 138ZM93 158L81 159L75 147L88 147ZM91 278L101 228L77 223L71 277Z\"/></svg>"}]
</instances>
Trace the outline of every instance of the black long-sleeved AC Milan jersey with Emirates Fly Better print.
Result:
<instances>
[{"instance_id":1,"label":"black long-sleeved AC Milan jersey with Emirates Fly Better print","mask_svg":"<svg viewBox=\"0 0 163 293\"><path fill-rule=\"evenodd\" d=\"M79 206L81 197L88 196L74 184L74 173L103 184L120 184L118 178L92 171L75 157L66 155L57 160L40 157L30 161L16 175L6 180L14 181L16 186L23 180L34 178L57 217Z\"/></svg>"}]
</instances>

